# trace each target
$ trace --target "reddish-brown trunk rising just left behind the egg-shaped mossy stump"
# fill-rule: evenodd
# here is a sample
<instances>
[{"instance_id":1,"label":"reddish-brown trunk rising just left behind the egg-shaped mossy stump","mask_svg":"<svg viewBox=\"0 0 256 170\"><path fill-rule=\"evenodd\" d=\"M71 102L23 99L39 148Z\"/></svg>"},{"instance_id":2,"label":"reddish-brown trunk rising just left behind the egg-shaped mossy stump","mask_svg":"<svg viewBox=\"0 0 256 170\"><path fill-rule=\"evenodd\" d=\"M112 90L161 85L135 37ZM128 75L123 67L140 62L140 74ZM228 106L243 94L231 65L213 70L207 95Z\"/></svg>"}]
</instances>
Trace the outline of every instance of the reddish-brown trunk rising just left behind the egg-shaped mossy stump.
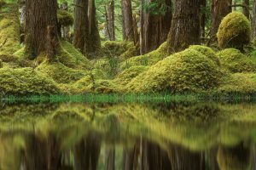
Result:
<instances>
[{"instance_id":1,"label":"reddish-brown trunk rising just left behind the egg-shaped mossy stump","mask_svg":"<svg viewBox=\"0 0 256 170\"><path fill-rule=\"evenodd\" d=\"M221 20L232 12L232 0L212 0L211 36L216 36Z\"/></svg>"}]
</instances>

